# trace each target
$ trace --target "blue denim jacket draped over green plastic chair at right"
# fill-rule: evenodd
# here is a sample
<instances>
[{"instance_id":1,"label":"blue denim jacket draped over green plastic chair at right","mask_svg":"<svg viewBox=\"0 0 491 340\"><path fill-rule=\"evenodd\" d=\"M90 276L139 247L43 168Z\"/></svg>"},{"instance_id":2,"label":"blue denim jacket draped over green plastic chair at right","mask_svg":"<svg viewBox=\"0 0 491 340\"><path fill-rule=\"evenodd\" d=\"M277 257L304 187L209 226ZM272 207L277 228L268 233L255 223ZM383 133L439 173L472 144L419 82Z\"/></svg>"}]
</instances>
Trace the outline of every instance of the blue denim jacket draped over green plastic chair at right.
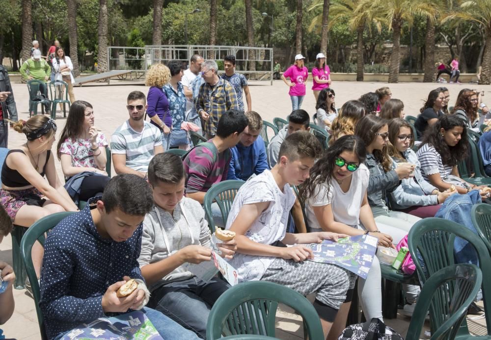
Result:
<instances>
[{"instance_id":1,"label":"blue denim jacket draped over green plastic chair at right","mask_svg":"<svg viewBox=\"0 0 491 340\"><path fill-rule=\"evenodd\" d=\"M441 205L435 217L457 222L477 235L477 230L470 219L470 212L474 204L481 203L479 190L471 190L467 194L453 194ZM472 245L456 237L454 241L454 256L456 263L470 263L478 265L477 254Z\"/></svg>"}]
</instances>

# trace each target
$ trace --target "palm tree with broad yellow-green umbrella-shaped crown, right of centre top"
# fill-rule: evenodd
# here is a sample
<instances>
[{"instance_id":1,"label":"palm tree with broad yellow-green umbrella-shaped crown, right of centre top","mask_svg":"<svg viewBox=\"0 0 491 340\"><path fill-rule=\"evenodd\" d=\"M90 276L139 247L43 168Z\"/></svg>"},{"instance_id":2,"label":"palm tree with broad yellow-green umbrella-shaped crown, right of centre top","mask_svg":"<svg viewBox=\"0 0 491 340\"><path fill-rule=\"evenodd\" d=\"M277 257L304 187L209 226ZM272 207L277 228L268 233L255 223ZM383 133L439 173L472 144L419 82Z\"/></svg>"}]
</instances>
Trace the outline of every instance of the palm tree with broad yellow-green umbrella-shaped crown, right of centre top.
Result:
<instances>
[{"instance_id":1,"label":"palm tree with broad yellow-green umbrella-shaped crown, right of centre top","mask_svg":"<svg viewBox=\"0 0 491 340\"><path fill-rule=\"evenodd\" d=\"M401 66L401 28L407 22L409 27L416 15L435 15L435 7L427 0L362 0L355 11L378 13L392 30L392 53L389 65L389 83L397 83Z\"/></svg>"}]
</instances>

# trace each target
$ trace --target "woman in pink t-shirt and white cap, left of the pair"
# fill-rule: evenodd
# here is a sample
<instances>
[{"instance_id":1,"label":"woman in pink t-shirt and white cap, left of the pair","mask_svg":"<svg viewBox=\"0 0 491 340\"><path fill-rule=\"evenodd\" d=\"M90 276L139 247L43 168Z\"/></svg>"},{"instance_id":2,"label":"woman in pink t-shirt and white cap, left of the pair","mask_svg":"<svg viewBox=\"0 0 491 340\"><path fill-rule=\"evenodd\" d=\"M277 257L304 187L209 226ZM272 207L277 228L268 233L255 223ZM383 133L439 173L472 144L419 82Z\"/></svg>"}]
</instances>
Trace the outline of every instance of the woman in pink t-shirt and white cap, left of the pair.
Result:
<instances>
[{"instance_id":1,"label":"woman in pink t-shirt and white cap, left of the pair","mask_svg":"<svg viewBox=\"0 0 491 340\"><path fill-rule=\"evenodd\" d=\"M285 84L290 87L288 94L292 99L292 111L300 109L303 97L305 97L308 69L303 66L303 59L305 59L303 55L297 54L295 56L295 64L290 66L281 76ZM288 77L290 77L290 82L286 80Z\"/></svg>"}]
</instances>

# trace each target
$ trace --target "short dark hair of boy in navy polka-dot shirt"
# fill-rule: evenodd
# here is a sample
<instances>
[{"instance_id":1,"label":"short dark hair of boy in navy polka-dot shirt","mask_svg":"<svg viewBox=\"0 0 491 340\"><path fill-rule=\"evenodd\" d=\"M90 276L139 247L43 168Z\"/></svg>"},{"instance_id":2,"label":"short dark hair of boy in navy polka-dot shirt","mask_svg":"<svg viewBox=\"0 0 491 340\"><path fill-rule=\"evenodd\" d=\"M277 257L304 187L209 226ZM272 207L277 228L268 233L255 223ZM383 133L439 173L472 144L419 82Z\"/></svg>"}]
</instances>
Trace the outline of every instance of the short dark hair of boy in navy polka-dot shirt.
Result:
<instances>
[{"instance_id":1,"label":"short dark hair of boy in navy polka-dot shirt","mask_svg":"<svg viewBox=\"0 0 491 340\"><path fill-rule=\"evenodd\" d=\"M111 178L104 188L102 201L108 214L119 208L128 215L145 216L154 205L150 186L143 178L133 173Z\"/></svg>"}]
</instances>

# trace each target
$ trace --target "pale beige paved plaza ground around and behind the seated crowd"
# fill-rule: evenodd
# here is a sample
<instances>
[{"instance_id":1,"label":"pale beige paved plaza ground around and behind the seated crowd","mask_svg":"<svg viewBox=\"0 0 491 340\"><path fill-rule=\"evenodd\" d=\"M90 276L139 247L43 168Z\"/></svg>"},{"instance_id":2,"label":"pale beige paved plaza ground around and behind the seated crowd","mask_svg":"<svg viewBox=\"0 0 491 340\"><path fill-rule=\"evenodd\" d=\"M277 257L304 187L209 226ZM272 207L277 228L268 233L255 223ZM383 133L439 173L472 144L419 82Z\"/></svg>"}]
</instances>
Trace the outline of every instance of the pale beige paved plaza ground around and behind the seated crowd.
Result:
<instances>
[{"instance_id":1,"label":"pale beige paved plaza ground around and behind the seated crowd","mask_svg":"<svg viewBox=\"0 0 491 340\"><path fill-rule=\"evenodd\" d=\"M288 96L288 87L281 81L276 80L273 86L269 82L251 82L249 84L252 97L252 109L257 111L266 121L273 121L274 117L285 118L291 111L290 97ZM428 93L438 86L445 85L450 90L450 105L453 106L457 95L461 89L470 88L485 91L484 102L491 105L491 86L476 84L436 84L436 83L357 83L357 82L333 82L332 89L336 93L336 106L341 105L349 100L356 99L362 94L375 91L382 86L389 86L392 91L392 98L401 99L405 104L404 112L406 115L417 116L419 108L423 105ZM303 101L302 109L305 109L310 115L315 113L315 102L312 91L312 83L307 83L307 95ZM28 93L25 84L12 84L12 89L17 102L19 118L27 120L28 114ZM102 84L84 84L82 87L75 87L74 93L76 99L86 100L94 107L95 125L102 130L108 141L114 130L128 119L126 110L126 97L131 91L142 91L147 94L148 87L139 83L129 83L124 81L111 81L111 85ZM40 108L39 108L40 110ZM67 112L68 114L68 112ZM63 114L57 112L56 124L58 133L61 132L65 124ZM9 134L9 147L15 148L25 143L26 138L13 130ZM55 144L56 145L56 144ZM53 151L55 151L55 146ZM61 166L56 160L58 176L62 178ZM114 172L113 172L114 174ZM0 244L0 260L8 263L12 262L11 256L11 239L10 236L3 239ZM4 330L7 338L16 339L40 339L39 328L37 324L36 312L33 300L25 294L24 290L14 290L16 301L15 312L12 318L0 326ZM409 318L398 316L394 320L385 320L396 331L405 335L409 327ZM468 320L469 328L474 334L486 334L483 324L485 321ZM277 314L277 333L279 339L300 339L303 334L299 316L293 311L282 308ZM484 333L483 333L484 331Z\"/></svg>"}]
</instances>

